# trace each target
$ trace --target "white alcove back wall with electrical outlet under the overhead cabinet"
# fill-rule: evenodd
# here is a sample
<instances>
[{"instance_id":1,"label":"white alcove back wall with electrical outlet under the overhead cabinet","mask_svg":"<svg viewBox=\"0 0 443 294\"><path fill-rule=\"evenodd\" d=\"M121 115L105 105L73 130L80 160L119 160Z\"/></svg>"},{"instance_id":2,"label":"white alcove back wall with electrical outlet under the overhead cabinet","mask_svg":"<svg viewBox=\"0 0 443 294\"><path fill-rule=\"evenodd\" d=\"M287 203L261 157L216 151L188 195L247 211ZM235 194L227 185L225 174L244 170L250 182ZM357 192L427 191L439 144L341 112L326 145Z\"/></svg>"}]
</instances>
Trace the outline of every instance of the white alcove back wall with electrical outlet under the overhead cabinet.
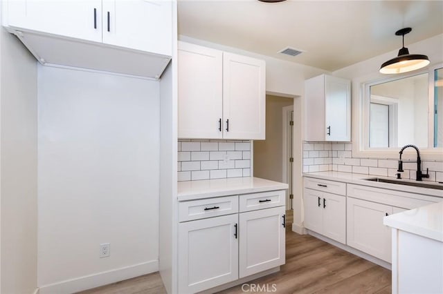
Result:
<instances>
[{"instance_id":1,"label":"white alcove back wall with electrical outlet under the overhead cabinet","mask_svg":"<svg viewBox=\"0 0 443 294\"><path fill-rule=\"evenodd\" d=\"M159 82L39 66L38 109L40 293L157 271Z\"/></svg>"}]
</instances>

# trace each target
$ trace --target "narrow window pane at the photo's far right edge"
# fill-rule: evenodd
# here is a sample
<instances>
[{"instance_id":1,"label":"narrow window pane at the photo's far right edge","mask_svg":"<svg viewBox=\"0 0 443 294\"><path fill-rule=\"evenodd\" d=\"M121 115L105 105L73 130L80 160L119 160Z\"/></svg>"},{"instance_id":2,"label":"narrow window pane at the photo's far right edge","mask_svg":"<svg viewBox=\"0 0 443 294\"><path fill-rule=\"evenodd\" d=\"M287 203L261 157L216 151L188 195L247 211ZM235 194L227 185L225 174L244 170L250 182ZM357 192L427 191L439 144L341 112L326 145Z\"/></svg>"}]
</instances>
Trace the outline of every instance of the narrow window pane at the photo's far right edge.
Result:
<instances>
[{"instance_id":1,"label":"narrow window pane at the photo's far right edge","mask_svg":"<svg viewBox=\"0 0 443 294\"><path fill-rule=\"evenodd\" d=\"M434 70L434 147L443 147L443 68Z\"/></svg>"}]
</instances>

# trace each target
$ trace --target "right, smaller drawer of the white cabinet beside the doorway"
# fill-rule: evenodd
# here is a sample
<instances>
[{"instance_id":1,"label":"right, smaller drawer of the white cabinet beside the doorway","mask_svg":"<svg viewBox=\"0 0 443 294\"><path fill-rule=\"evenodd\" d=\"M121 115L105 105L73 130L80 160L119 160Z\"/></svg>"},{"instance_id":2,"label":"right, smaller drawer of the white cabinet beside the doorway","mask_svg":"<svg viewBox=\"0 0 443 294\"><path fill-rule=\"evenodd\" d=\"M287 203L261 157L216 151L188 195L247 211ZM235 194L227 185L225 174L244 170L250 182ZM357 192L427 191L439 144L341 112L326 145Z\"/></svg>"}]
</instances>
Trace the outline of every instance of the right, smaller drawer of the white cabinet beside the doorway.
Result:
<instances>
[{"instance_id":1,"label":"right, smaller drawer of the white cabinet beside the doorway","mask_svg":"<svg viewBox=\"0 0 443 294\"><path fill-rule=\"evenodd\" d=\"M284 190L239 196L239 210L241 213L276 206L284 206Z\"/></svg>"}]
</instances>

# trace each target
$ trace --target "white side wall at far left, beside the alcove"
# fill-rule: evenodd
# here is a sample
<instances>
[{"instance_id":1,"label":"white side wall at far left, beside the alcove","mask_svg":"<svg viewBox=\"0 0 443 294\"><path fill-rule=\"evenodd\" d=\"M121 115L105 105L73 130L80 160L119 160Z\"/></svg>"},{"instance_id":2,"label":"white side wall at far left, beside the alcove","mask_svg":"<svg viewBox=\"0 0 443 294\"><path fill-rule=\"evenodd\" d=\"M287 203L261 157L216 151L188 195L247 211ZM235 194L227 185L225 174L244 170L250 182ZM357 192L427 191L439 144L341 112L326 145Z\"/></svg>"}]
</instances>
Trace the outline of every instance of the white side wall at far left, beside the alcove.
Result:
<instances>
[{"instance_id":1,"label":"white side wall at far left, beside the alcove","mask_svg":"<svg viewBox=\"0 0 443 294\"><path fill-rule=\"evenodd\" d=\"M0 28L0 207L3 294L37 288L37 63Z\"/></svg>"}]
</instances>

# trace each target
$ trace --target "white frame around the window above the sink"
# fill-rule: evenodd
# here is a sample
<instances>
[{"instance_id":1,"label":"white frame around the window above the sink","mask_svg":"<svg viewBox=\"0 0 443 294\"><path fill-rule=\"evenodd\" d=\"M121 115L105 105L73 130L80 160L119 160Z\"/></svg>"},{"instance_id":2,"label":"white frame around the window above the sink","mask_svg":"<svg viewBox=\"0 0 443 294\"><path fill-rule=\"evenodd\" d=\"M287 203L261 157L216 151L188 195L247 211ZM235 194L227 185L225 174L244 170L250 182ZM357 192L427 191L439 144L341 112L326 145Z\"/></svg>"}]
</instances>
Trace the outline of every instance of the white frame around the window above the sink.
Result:
<instances>
[{"instance_id":1,"label":"white frame around the window above the sink","mask_svg":"<svg viewBox=\"0 0 443 294\"><path fill-rule=\"evenodd\" d=\"M443 160L443 148L433 148L434 123L433 99L434 99L434 70L442 68L443 63L437 63L428 66L424 70L406 72L405 74L395 75L394 77L383 77L377 79L361 79L356 81L359 85L358 95L353 92L352 99L352 156L361 158L383 158L398 159L400 148L369 148L369 105L370 105L370 86L395 81L406 77L412 77L428 73L428 147L420 148L420 155L425 160ZM415 152L409 151L411 158Z\"/></svg>"}]
</instances>

